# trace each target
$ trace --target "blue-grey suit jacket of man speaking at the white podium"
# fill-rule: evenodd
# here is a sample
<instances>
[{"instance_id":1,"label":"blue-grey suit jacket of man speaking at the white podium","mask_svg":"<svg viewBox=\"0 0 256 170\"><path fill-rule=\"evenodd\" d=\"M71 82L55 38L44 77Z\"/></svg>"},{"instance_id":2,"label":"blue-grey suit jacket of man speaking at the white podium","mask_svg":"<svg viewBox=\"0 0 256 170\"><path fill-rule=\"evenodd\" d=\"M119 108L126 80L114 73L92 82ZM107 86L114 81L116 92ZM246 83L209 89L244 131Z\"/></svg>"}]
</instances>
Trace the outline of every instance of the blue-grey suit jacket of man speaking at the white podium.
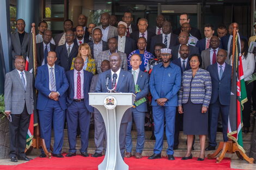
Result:
<instances>
[{"instance_id":1,"label":"blue-grey suit jacket of man speaking at the white podium","mask_svg":"<svg viewBox=\"0 0 256 170\"><path fill-rule=\"evenodd\" d=\"M108 92L107 87L105 86L107 74L111 75L111 70L107 70L103 73L100 73L99 79L96 83L95 92ZM112 89L111 86L112 86L112 81L110 79L108 88ZM121 69L118 77L116 91L123 92L123 93L135 93L135 84L133 81L133 75L130 72ZM128 109L126 110L121 123L127 123L130 121L132 121L132 114L131 114L131 110Z\"/></svg>"}]
</instances>

